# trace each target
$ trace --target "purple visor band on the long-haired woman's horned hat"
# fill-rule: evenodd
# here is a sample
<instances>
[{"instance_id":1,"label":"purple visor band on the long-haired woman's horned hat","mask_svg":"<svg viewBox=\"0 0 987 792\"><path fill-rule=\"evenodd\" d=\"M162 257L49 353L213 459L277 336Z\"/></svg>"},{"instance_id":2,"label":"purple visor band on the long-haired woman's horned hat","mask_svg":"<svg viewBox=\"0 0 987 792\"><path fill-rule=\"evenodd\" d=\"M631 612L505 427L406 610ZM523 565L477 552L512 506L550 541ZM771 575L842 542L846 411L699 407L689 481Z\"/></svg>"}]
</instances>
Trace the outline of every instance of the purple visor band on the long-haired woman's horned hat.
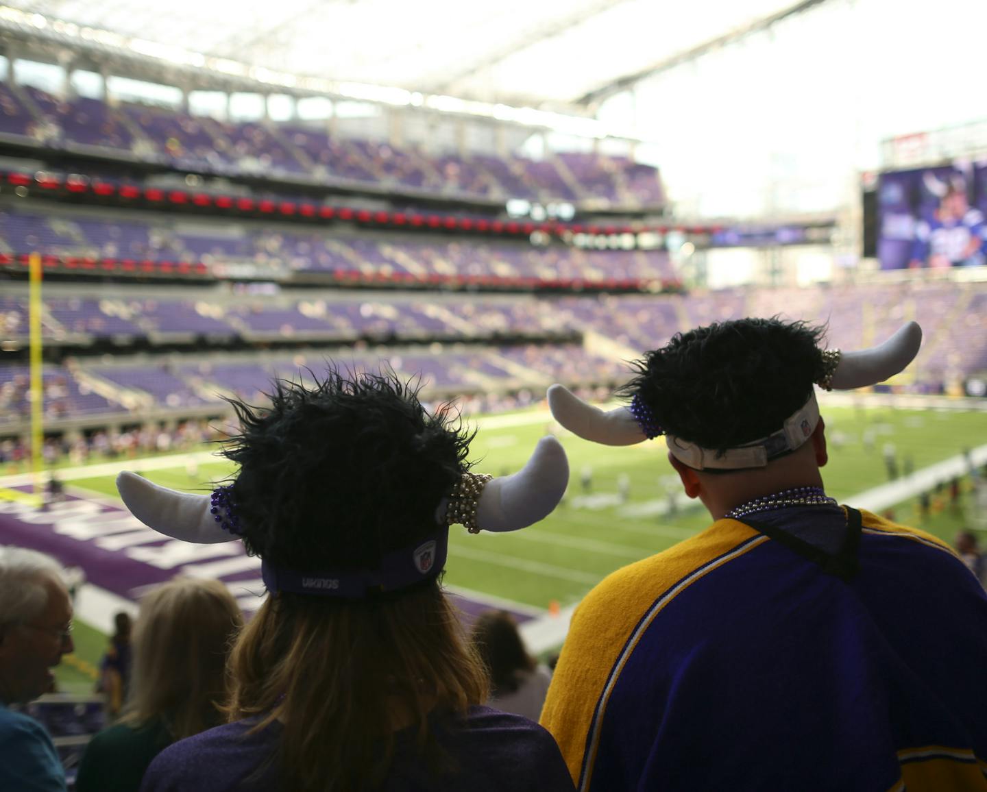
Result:
<instances>
[{"instance_id":1,"label":"purple visor band on the long-haired woman's horned hat","mask_svg":"<svg viewBox=\"0 0 987 792\"><path fill-rule=\"evenodd\" d=\"M233 487L222 486L212 493L209 512L223 531L243 536L233 502ZM437 527L431 537L402 547L380 559L376 569L299 571L275 566L261 559L261 576L271 594L286 591L319 597L359 600L372 594L385 594L413 586L438 575L445 566L449 549L448 526Z\"/></svg>"}]
</instances>

